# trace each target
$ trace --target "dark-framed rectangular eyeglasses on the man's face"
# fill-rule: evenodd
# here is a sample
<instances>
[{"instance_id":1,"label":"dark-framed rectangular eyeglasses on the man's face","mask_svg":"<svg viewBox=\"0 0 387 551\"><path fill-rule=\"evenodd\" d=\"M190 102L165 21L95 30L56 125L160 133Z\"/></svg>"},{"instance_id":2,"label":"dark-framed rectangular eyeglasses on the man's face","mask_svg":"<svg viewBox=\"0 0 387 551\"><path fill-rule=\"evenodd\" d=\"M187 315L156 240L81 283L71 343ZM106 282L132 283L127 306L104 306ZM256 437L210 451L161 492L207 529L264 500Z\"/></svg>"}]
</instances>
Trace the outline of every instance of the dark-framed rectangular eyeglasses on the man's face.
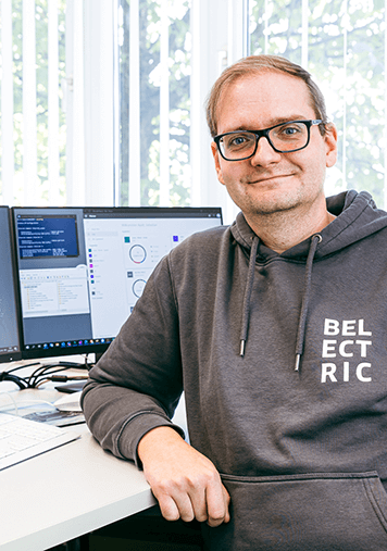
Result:
<instances>
[{"instance_id":1,"label":"dark-framed rectangular eyeglasses on the man's face","mask_svg":"<svg viewBox=\"0 0 387 551\"><path fill-rule=\"evenodd\" d=\"M245 161L257 152L260 138L266 138L277 153L292 153L304 149L310 140L311 126L323 121L289 121L263 130L236 130L214 137L225 161Z\"/></svg>"}]
</instances>

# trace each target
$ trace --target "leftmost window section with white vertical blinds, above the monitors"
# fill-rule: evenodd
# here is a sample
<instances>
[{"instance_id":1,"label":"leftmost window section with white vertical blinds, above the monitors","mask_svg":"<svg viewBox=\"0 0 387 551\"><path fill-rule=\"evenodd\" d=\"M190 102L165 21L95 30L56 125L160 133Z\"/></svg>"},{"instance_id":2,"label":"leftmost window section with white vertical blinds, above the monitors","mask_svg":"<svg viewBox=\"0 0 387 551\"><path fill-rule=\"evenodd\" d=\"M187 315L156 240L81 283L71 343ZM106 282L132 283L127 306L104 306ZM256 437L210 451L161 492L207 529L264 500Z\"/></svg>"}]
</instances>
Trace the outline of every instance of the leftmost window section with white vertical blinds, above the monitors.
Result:
<instances>
[{"instance_id":1,"label":"leftmost window section with white vertical blinds, above the monitors","mask_svg":"<svg viewBox=\"0 0 387 551\"><path fill-rule=\"evenodd\" d=\"M1 199L64 204L64 0L1 0Z\"/></svg>"}]
</instances>

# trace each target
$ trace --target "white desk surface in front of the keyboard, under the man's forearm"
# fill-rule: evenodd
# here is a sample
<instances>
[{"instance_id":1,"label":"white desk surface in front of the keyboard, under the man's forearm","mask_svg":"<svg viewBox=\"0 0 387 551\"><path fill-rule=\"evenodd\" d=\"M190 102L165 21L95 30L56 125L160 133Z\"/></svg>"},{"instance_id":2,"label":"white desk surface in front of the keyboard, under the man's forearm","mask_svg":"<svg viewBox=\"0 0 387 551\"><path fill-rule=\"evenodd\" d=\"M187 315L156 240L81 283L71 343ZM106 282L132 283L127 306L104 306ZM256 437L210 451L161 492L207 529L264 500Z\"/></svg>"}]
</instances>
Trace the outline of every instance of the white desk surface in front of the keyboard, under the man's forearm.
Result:
<instances>
[{"instance_id":1,"label":"white desk surface in front of the keyboard, under the man's forearm","mask_svg":"<svg viewBox=\"0 0 387 551\"><path fill-rule=\"evenodd\" d=\"M104 452L86 425L72 430L80 439L0 472L1 551L42 551L155 503L134 464Z\"/></svg>"}]
</instances>

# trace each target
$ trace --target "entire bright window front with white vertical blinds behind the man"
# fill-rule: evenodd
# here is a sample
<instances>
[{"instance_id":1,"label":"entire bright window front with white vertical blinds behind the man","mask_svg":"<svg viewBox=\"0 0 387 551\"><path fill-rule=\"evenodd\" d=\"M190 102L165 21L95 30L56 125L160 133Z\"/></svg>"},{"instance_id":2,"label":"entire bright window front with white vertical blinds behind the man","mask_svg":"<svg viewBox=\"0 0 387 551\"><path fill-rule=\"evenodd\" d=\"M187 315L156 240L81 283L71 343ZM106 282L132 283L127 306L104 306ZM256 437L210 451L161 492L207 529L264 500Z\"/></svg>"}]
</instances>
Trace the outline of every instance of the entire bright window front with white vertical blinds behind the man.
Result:
<instances>
[{"instance_id":1,"label":"entire bright window front with white vertical blinds behind the man","mask_svg":"<svg viewBox=\"0 0 387 551\"><path fill-rule=\"evenodd\" d=\"M220 205L204 100L251 53L308 68L339 133L327 195L387 206L382 0L1 0L3 204Z\"/></svg>"}]
</instances>

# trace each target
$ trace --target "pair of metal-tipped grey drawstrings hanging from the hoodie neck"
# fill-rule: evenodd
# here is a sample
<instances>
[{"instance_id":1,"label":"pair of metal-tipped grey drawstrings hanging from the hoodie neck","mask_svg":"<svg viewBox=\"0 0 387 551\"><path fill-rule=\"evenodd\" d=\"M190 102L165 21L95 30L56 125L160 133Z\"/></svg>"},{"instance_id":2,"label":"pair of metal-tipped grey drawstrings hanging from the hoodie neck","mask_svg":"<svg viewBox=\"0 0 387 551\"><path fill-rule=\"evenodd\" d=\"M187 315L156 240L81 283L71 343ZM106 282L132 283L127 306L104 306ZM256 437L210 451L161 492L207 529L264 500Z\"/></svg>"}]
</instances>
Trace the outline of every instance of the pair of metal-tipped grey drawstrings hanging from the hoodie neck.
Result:
<instances>
[{"instance_id":1,"label":"pair of metal-tipped grey drawstrings hanging from the hoodie neck","mask_svg":"<svg viewBox=\"0 0 387 551\"><path fill-rule=\"evenodd\" d=\"M312 267L313 260L315 255L315 251L317 249L317 245L322 241L322 237L320 234L315 234L312 236L311 246L308 253L307 265L305 265L305 279L304 279L304 291L301 302L301 312L300 320L298 323L298 331L297 331L297 342L296 342L296 366L295 371L299 371L301 355L303 352L303 342L305 335L305 326L307 326L307 315L308 315L308 306L309 306L309 297L312 286ZM248 277L245 289L244 297L244 306L242 306L242 326L240 331L240 350L239 355L245 355L245 348L247 341L247 335L249 329L249 314L250 314L250 298L252 291L252 284L254 281L254 272L255 272L255 260L257 260L257 250L258 250L259 238L255 236L252 240L251 251L250 251L250 261L249 261L249 270Z\"/></svg>"}]
</instances>

